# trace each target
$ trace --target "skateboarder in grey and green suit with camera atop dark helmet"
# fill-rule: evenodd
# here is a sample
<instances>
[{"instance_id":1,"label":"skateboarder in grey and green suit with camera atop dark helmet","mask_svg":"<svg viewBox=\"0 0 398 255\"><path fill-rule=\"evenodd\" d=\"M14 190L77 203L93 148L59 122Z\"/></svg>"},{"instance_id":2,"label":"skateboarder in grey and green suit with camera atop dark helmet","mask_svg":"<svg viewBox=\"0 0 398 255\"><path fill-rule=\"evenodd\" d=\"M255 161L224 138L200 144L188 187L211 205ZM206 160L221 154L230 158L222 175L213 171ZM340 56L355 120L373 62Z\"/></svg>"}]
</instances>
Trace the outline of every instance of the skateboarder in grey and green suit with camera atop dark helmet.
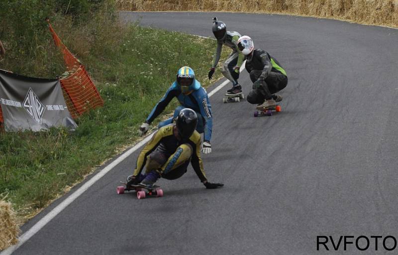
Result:
<instances>
[{"instance_id":1,"label":"skateboarder in grey and green suit with camera atop dark helmet","mask_svg":"<svg viewBox=\"0 0 398 255\"><path fill-rule=\"evenodd\" d=\"M208 72L208 78L211 80L213 77L215 67L217 66L218 60L220 59L222 45L226 45L232 49L231 54L222 66L222 74L231 81L232 88L227 90L227 95L235 95L242 92L242 87L238 83L239 69L243 63L244 55L238 49L238 39L241 36L240 33L235 31L227 31L224 22L213 19L213 34L217 39L217 49L213 57L213 64Z\"/></svg>"}]
</instances>

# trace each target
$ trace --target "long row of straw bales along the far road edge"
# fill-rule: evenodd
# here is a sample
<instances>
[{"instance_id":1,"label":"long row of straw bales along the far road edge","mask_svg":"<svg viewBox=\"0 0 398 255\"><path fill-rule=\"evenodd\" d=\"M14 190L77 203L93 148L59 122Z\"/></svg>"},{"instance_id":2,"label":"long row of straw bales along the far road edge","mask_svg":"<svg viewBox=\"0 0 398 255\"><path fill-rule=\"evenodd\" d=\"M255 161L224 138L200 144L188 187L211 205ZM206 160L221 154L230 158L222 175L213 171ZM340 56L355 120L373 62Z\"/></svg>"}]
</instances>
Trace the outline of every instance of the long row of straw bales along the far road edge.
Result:
<instances>
[{"instance_id":1,"label":"long row of straw bales along the far road edge","mask_svg":"<svg viewBox=\"0 0 398 255\"><path fill-rule=\"evenodd\" d=\"M398 0L116 0L122 10L272 12L398 27Z\"/></svg>"}]
</instances>

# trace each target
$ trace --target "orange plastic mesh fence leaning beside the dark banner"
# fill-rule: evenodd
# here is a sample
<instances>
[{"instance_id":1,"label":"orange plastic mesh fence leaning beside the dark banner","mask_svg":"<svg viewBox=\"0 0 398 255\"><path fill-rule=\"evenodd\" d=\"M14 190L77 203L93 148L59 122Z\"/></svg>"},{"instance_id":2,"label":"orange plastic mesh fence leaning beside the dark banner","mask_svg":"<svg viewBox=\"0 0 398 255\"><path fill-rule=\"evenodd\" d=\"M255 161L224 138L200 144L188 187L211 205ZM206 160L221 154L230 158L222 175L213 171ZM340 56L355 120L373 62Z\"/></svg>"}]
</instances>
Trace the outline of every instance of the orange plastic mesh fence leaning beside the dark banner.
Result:
<instances>
[{"instance_id":1,"label":"orange plastic mesh fence leaning beside the dark banner","mask_svg":"<svg viewBox=\"0 0 398 255\"><path fill-rule=\"evenodd\" d=\"M90 109L103 106L103 100L86 68L68 50L47 20L55 44L61 48L68 71L72 74L60 79L68 110L76 118Z\"/></svg>"}]
</instances>

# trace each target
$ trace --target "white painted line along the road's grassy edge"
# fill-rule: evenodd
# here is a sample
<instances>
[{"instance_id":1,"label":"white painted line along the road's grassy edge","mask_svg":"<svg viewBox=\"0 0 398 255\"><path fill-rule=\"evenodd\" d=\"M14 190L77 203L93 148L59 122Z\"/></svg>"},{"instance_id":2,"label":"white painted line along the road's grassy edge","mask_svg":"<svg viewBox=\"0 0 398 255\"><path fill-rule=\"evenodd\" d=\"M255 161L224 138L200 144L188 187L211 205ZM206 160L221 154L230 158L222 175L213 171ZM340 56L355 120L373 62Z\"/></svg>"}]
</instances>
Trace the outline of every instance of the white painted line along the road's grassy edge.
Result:
<instances>
[{"instance_id":1,"label":"white painted line along the road's grassy edge","mask_svg":"<svg viewBox=\"0 0 398 255\"><path fill-rule=\"evenodd\" d=\"M243 62L242 66L240 67L240 71L243 70L244 66L245 66L245 62ZM228 84L228 82L229 82L229 80L226 80L223 83L221 83L220 85L218 85L215 89L213 89L210 93L208 93L208 97L211 97L214 93L216 93L222 87L224 87L226 84ZM51 210L46 216L41 218L32 228L30 228L22 236L20 236L18 244L10 246L6 250L2 251L0 253L0 255L12 254L16 249L18 249L21 245L23 245L26 241L28 241L34 234L36 234L37 232L39 232L39 230L41 230L44 226L46 226L47 223L49 223L52 219L54 219L55 216L57 216L60 212L62 212L62 210L64 210L68 205L70 205L75 199L77 199L80 195L82 195L83 192L85 192L87 189L89 189L91 186L93 186L93 184L96 183L102 176L104 176L107 172L112 170L113 167L115 167L121 161L123 161L128 156L130 156L134 151L136 151L142 145L144 145L146 142L148 142L152 138L153 134L154 133L151 133L150 135L145 137L142 141L138 142L132 148L130 148L125 153L123 153L118 158L116 158L114 161L112 161L105 168L100 170L100 172L98 174L96 174L93 178L88 180L85 184L83 184L82 187L80 187L72 195L67 197L64 201L62 201L59 205L57 205L53 210Z\"/></svg>"}]
</instances>

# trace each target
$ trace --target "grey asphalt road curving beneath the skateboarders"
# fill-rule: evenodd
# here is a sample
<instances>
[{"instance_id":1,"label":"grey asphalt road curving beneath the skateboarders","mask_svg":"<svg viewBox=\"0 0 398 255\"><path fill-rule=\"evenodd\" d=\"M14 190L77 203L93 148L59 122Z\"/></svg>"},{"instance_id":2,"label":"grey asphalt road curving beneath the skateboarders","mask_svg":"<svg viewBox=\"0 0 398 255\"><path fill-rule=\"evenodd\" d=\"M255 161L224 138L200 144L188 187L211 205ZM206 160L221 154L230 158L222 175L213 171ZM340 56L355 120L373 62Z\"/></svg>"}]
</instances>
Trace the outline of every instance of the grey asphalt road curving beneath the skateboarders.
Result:
<instances>
[{"instance_id":1,"label":"grey asphalt road curving beneath the skateboarders","mask_svg":"<svg viewBox=\"0 0 398 255\"><path fill-rule=\"evenodd\" d=\"M163 198L115 188L139 151L107 173L14 255L396 254L398 238L398 30L285 15L121 12L142 25L212 36L217 16L253 38L287 71L282 112L254 118L246 101L210 98L213 152L206 190L192 168L161 179ZM209 63L210 64L210 63ZM251 89L246 71L244 93ZM210 91L212 88L208 89ZM74 188L72 192L76 190ZM28 230L59 199L22 228ZM366 236L366 251L355 247ZM317 251L317 236L354 236L344 251ZM378 239L378 251L371 236ZM362 238L359 246L366 247ZM386 240L392 248L392 238Z\"/></svg>"}]
</instances>

